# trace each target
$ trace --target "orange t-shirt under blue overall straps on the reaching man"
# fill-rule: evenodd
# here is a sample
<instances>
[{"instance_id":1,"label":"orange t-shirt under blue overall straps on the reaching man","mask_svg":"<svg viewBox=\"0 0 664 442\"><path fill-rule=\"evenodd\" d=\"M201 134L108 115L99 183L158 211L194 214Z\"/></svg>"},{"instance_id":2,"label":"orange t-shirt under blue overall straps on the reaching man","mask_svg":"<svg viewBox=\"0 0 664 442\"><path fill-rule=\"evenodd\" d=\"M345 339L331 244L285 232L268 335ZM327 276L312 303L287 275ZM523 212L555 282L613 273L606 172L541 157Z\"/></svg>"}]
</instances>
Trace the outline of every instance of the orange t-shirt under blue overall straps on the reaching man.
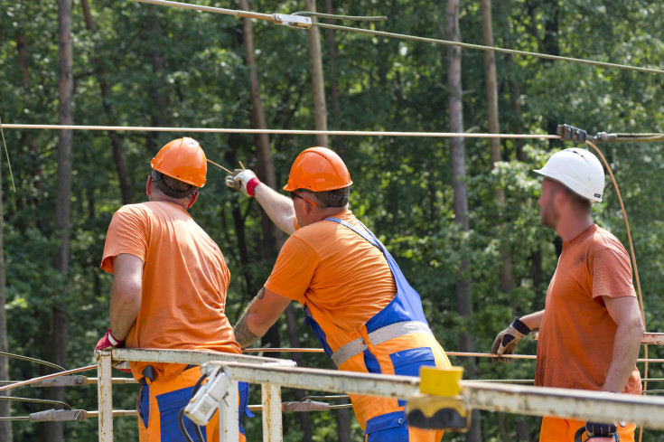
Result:
<instances>
[{"instance_id":1,"label":"orange t-shirt under blue overall straps on the reaching man","mask_svg":"<svg viewBox=\"0 0 664 442\"><path fill-rule=\"evenodd\" d=\"M333 217L359 225L351 211ZM359 329L397 294L382 251L333 221L296 230L265 287L308 306L314 318L326 317L341 333ZM330 334L328 343L332 349L340 346Z\"/></svg>"}]
</instances>

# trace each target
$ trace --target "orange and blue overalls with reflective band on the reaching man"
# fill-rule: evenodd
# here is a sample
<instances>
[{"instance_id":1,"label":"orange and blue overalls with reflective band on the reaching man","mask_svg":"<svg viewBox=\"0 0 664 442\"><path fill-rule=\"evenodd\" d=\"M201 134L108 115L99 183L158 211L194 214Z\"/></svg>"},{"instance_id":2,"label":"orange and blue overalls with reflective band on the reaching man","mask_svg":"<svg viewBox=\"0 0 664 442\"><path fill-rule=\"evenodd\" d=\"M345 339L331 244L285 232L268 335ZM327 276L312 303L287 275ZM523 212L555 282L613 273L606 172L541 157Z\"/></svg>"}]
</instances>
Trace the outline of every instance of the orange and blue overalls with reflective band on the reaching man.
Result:
<instances>
[{"instance_id":1,"label":"orange and blue overalls with reflective band on the reaching man","mask_svg":"<svg viewBox=\"0 0 664 442\"><path fill-rule=\"evenodd\" d=\"M304 305L306 323L339 370L419 376L422 366L451 366L429 329L420 296L388 249L361 222L364 231L338 218L326 220L353 230L381 250L397 286L397 294L388 306L356 330L342 330L326 315ZM408 428L405 400L351 395L351 401L367 442L434 442L443 437L442 431Z\"/></svg>"}]
</instances>

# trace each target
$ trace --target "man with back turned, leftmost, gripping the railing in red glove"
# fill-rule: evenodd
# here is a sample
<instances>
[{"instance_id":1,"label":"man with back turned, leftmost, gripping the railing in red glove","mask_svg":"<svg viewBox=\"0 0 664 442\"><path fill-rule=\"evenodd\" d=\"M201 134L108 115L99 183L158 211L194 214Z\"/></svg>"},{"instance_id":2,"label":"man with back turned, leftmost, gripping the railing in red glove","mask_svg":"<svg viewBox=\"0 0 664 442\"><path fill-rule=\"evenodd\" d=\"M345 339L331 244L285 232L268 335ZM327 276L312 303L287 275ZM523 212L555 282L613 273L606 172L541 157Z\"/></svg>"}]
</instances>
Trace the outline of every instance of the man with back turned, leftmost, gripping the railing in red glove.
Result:
<instances>
[{"instance_id":1,"label":"man with back turned, leftmost, gripping the railing in red glove","mask_svg":"<svg viewBox=\"0 0 664 442\"><path fill-rule=\"evenodd\" d=\"M205 184L207 163L198 142L179 138L154 156L145 183L148 202L127 204L108 227L101 268L113 274L110 328L96 351L110 347L207 350L241 353L224 313L229 268L217 244L187 209ZM130 362L138 393L141 442L180 442L179 427L193 434L179 413L201 377L195 365ZM248 402L240 383L239 416ZM248 410L248 409L247 409ZM244 428L240 418L240 439ZM203 428L219 440L219 418Z\"/></svg>"}]
</instances>

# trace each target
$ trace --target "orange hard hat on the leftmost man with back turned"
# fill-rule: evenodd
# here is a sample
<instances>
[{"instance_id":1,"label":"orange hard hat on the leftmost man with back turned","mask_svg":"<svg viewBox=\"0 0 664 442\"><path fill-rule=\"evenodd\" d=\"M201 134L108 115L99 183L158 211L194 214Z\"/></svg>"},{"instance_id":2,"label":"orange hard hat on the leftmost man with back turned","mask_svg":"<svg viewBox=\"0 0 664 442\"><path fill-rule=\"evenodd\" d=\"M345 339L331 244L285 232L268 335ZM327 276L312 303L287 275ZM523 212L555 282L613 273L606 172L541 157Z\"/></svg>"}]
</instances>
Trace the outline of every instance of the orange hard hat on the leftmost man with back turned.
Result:
<instances>
[{"instance_id":1,"label":"orange hard hat on the leftmost man with back turned","mask_svg":"<svg viewBox=\"0 0 664 442\"><path fill-rule=\"evenodd\" d=\"M150 163L152 168L183 183L196 187L205 185L208 162L205 153L193 138L183 137L168 142Z\"/></svg>"}]
</instances>

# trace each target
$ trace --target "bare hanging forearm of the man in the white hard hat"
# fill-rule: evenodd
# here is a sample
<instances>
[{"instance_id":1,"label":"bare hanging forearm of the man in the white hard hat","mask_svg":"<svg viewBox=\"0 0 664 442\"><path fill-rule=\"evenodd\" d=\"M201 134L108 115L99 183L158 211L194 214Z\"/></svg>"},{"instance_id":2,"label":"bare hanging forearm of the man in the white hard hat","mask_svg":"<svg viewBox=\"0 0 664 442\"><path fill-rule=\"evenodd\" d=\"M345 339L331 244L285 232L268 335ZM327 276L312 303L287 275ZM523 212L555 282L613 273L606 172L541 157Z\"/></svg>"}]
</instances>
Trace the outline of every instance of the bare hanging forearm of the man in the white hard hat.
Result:
<instances>
[{"instance_id":1,"label":"bare hanging forearm of the man in the white hard hat","mask_svg":"<svg viewBox=\"0 0 664 442\"><path fill-rule=\"evenodd\" d=\"M634 370L645 329L641 321L639 303L635 297L602 296L602 299L609 315L618 325L613 340L611 364L602 390L620 393L630 379L631 371Z\"/></svg>"}]
</instances>

